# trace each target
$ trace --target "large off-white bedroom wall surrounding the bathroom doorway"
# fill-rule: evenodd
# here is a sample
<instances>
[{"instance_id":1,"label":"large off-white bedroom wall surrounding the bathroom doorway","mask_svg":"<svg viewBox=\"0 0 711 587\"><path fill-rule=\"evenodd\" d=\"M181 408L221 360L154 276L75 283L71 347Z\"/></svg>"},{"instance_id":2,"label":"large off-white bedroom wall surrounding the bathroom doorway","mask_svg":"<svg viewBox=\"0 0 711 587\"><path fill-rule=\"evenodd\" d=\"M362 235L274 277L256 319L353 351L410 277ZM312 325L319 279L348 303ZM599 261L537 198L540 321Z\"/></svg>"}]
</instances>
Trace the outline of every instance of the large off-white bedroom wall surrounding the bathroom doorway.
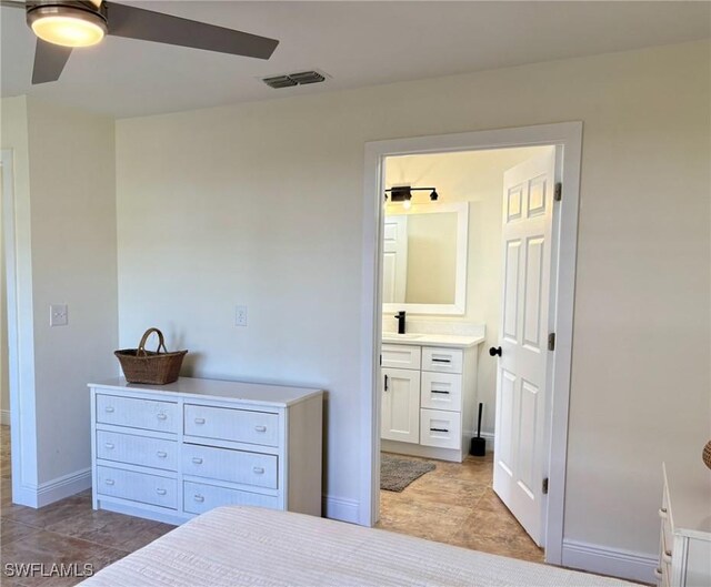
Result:
<instances>
[{"instance_id":1,"label":"large off-white bedroom wall surrounding the bathroom doorway","mask_svg":"<svg viewBox=\"0 0 711 587\"><path fill-rule=\"evenodd\" d=\"M709 49L119 121L121 344L157 325L193 374L323 386L356 506L363 144L582 120L564 535L653 554L661 461L711 433Z\"/></svg>"}]
</instances>

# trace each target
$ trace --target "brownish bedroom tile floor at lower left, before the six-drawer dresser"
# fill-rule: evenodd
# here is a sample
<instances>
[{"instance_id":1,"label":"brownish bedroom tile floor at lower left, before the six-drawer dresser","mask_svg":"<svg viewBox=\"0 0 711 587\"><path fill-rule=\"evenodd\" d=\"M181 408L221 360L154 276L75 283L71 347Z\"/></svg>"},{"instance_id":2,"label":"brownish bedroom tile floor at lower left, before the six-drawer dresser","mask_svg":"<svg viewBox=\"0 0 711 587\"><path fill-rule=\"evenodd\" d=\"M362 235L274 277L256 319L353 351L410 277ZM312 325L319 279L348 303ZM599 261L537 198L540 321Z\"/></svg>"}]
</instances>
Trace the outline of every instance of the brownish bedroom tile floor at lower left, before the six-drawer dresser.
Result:
<instances>
[{"instance_id":1,"label":"brownish bedroom tile floor at lower left, before the six-drawer dresser","mask_svg":"<svg viewBox=\"0 0 711 587\"><path fill-rule=\"evenodd\" d=\"M40 509L12 504L10 428L0 426L0 584L3 587L74 585L81 577L9 577L7 563L93 565L94 571L146 546L173 528L91 508L91 492L68 497Z\"/></svg>"}]
</instances>

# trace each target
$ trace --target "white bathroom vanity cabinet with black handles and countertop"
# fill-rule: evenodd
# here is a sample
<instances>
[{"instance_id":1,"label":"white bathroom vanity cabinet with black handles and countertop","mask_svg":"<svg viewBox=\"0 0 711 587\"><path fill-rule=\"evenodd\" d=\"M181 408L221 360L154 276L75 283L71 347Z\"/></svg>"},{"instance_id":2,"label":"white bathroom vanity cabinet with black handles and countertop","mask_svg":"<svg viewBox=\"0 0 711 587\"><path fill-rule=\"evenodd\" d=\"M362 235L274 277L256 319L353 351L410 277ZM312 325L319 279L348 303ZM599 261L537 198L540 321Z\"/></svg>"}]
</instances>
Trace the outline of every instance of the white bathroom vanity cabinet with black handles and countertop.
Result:
<instances>
[{"instance_id":1,"label":"white bathroom vanity cabinet with black handles and countertop","mask_svg":"<svg viewBox=\"0 0 711 587\"><path fill-rule=\"evenodd\" d=\"M474 434L483 336L383 333L381 448L461 463Z\"/></svg>"}]
</instances>

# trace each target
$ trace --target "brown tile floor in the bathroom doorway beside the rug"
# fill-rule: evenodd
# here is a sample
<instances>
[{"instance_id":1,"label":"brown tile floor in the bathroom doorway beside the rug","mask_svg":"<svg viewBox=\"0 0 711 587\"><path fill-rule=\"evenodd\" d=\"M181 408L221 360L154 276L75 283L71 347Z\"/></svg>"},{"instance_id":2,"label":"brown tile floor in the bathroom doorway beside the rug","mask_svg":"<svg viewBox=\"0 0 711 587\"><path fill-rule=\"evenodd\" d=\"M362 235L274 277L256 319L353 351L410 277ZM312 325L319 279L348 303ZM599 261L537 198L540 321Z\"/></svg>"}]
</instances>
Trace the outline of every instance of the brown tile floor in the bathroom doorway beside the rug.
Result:
<instances>
[{"instance_id":1,"label":"brown tile floor in the bathroom doorway beside the rug","mask_svg":"<svg viewBox=\"0 0 711 587\"><path fill-rule=\"evenodd\" d=\"M428 461L428 459L422 459ZM437 468L402 493L380 492L378 527L494 555L543 561L517 519L491 488L492 454Z\"/></svg>"}]
</instances>

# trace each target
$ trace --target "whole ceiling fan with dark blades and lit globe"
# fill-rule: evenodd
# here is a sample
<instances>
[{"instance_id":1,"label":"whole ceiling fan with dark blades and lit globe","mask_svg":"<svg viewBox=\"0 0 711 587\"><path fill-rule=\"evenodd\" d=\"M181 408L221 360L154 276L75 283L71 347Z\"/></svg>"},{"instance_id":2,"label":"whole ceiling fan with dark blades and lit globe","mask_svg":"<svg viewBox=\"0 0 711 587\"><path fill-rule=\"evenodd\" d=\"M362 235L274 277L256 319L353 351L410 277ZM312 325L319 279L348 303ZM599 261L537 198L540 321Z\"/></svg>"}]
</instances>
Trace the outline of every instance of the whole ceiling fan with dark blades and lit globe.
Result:
<instances>
[{"instance_id":1,"label":"whole ceiling fan with dark blades and lit globe","mask_svg":"<svg viewBox=\"0 0 711 587\"><path fill-rule=\"evenodd\" d=\"M0 0L21 8L37 36L32 83L57 81L74 48L99 43L104 36L206 49L269 59L279 41L103 0Z\"/></svg>"}]
</instances>

